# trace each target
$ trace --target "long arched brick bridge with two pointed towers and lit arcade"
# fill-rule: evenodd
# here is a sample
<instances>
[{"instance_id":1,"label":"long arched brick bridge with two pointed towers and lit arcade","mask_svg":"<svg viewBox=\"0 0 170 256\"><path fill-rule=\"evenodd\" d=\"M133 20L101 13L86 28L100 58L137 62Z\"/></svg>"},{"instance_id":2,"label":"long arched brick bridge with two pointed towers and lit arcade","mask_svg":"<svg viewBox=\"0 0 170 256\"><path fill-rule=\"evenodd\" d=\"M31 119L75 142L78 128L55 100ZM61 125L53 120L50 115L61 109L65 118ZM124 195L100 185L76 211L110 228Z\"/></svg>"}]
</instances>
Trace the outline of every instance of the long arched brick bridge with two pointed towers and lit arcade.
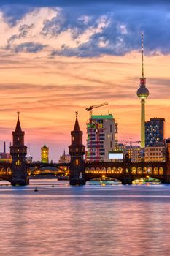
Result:
<instances>
[{"instance_id":1,"label":"long arched brick bridge with two pointed towers and lit arcade","mask_svg":"<svg viewBox=\"0 0 170 256\"><path fill-rule=\"evenodd\" d=\"M29 184L31 176L35 176L36 171L43 167L55 167L56 170L69 167L70 185L84 185L86 181L104 176L122 181L122 184L132 184L132 181L146 176L158 178L163 183L170 183L170 145L166 150L166 162L131 162L128 155L123 162L85 162L85 146L82 144L82 131L76 116L69 146L70 163L30 164L26 162L27 147L24 145L24 135L18 113L17 125L12 132L13 142L10 146L12 162L0 163L0 179L9 181L14 186Z\"/></svg>"}]
</instances>

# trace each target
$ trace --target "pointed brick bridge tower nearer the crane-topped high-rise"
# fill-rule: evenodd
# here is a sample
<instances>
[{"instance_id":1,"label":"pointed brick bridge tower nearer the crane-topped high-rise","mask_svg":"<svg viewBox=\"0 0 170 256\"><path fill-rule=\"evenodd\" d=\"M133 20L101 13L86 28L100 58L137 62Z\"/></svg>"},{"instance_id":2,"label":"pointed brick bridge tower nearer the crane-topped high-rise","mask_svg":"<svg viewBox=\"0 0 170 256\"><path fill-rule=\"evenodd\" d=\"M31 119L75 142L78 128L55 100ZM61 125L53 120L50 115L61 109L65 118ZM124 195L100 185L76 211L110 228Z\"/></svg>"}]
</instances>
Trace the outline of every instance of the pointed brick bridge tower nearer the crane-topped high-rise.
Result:
<instances>
[{"instance_id":1,"label":"pointed brick bridge tower nearer the crane-topped high-rise","mask_svg":"<svg viewBox=\"0 0 170 256\"><path fill-rule=\"evenodd\" d=\"M85 154L85 146L82 145L82 131L80 131L79 122L77 119L74 124L74 130L71 132L72 144L69 146L70 160L70 185L84 185L85 184L85 161L83 156Z\"/></svg>"}]
</instances>

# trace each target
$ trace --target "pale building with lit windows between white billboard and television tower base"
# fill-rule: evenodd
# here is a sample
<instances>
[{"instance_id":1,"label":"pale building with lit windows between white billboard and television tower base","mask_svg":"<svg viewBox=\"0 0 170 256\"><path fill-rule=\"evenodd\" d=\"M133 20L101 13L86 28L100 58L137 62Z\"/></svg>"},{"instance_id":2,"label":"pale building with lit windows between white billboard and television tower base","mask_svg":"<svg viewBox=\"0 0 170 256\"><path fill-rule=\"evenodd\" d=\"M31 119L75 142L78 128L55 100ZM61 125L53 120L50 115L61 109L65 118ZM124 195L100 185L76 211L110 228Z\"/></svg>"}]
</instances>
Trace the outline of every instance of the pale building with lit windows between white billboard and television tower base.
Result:
<instances>
[{"instance_id":1,"label":"pale building with lit windows between white billboard and television tower base","mask_svg":"<svg viewBox=\"0 0 170 256\"><path fill-rule=\"evenodd\" d=\"M128 154L131 162L141 162L141 147L137 145L127 146L125 144L117 144L117 150L123 151L123 157Z\"/></svg>"}]
</instances>

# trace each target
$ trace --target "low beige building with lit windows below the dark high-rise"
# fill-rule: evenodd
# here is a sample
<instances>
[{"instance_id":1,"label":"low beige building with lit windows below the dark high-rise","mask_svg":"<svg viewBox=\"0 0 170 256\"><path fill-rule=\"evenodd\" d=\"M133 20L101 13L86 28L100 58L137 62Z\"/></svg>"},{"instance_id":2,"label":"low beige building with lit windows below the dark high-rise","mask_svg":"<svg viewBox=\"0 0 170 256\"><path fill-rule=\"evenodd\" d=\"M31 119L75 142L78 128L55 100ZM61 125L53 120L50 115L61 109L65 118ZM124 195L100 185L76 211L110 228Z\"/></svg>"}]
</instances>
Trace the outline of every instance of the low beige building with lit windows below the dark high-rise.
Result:
<instances>
[{"instance_id":1,"label":"low beige building with lit windows below the dark high-rise","mask_svg":"<svg viewBox=\"0 0 170 256\"><path fill-rule=\"evenodd\" d=\"M165 146L148 146L144 150L145 162L165 162L166 147Z\"/></svg>"}]
</instances>

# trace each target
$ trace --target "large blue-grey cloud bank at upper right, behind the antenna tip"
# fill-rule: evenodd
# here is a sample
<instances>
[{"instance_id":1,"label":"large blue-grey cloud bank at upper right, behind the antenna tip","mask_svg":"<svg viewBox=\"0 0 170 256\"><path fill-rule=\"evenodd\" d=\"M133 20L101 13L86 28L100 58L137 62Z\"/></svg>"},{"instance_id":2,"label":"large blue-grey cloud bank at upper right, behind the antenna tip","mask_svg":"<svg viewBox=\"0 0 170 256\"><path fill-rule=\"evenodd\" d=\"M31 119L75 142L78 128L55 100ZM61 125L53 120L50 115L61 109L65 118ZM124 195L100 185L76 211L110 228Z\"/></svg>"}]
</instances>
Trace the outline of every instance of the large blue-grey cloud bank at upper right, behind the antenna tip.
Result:
<instances>
[{"instance_id":1,"label":"large blue-grey cloud bank at upper right, behind the antenna tip","mask_svg":"<svg viewBox=\"0 0 170 256\"><path fill-rule=\"evenodd\" d=\"M72 16L73 13L70 12L69 15ZM77 17L77 14L73 16L73 22L71 18L65 20L60 26L61 24L56 19L55 24L59 24L58 33L67 29L72 31L72 38L77 41L77 47L71 48L64 43L60 49L52 51L52 56L93 57L101 56L102 54L121 56L132 50L140 50L140 33L142 31L144 31L145 54L170 53L170 12L168 10L158 10L158 8L140 10L136 7L121 10L118 8L117 10L112 10L112 12L105 12L103 15L98 15L98 12L94 12L92 16L87 16L92 18L89 18L87 23L82 24L79 23L80 18ZM80 44L79 37L90 27L96 29L101 22L100 18L102 16L108 25L103 26L100 31L92 34L88 41ZM50 23L45 24L46 33L47 31L52 33L50 29L48 30L48 26L50 27ZM55 30L54 25L53 29Z\"/></svg>"}]
</instances>

